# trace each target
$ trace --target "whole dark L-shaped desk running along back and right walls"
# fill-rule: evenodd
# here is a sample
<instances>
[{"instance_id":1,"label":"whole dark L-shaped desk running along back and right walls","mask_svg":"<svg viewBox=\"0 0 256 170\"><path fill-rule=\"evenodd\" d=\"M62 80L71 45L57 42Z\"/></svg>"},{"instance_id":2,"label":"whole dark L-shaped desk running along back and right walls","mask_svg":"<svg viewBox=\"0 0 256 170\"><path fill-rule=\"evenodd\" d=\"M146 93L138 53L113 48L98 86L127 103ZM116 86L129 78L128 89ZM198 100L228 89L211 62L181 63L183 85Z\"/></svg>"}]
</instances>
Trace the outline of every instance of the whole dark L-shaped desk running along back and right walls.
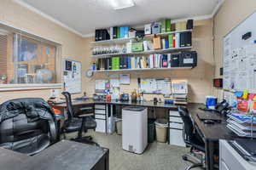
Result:
<instances>
[{"instance_id":1,"label":"whole dark L-shaped desk running along back and right walls","mask_svg":"<svg viewBox=\"0 0 256 170\"><path fill-rule=\"evenodd\" d=\"M139 105L145 107L154 107L154 108L166 108L169 111L177 111L177 105L165 104L165 103L157 103L154 104L153 101L144 101L144 102L121 102L121 101L94 101L93 99L88 99L85 101L73 101L74 106L78 105L95 105L95 104L103 104L103 105ZM59 105L61 107L67 107L66 104ZM214 146L218 145L219 139L236 139L237 135L230 131L229 128L226 127L227 122L226 119L222 116L219 116L222 119L221 123L216 124L205 124L201 122L197 117L197 114L202 115L206 114L206 111L201 111L200 107L205 107L202 104L189 104L186 106L191 114L193 121L195 122L195 128L201 134L201 137L204 139L206 143L206 160L207 160L207 169L212 170L213 168L213 152ZM216 113L214 113L216 114ZM218 116L218 114L216 114ZM168 117L168 116L167 116Z\"/></svg>"}]
</instances>

